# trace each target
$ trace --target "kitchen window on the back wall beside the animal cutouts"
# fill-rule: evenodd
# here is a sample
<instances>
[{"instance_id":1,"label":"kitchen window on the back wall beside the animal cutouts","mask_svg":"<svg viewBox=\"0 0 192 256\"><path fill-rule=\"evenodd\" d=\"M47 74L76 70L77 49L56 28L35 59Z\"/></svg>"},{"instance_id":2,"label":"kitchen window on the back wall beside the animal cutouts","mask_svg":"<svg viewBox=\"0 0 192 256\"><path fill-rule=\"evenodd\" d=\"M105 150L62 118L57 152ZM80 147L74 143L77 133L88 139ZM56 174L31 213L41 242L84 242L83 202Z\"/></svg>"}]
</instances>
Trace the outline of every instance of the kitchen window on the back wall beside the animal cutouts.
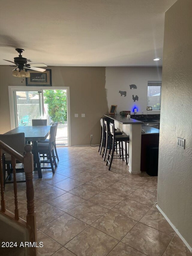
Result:
<instances>
[{"instance_id":1,"label":"kitchen window on the back wall beside the animal cutouts","mask_svg":"<svg viewBox=\"0 0 192 256\"><path fill-rule=\"evenodd\" d=\"M161 82L148 82L147 106L152 110L161 109Z\"/></svg>"}]
</instances>

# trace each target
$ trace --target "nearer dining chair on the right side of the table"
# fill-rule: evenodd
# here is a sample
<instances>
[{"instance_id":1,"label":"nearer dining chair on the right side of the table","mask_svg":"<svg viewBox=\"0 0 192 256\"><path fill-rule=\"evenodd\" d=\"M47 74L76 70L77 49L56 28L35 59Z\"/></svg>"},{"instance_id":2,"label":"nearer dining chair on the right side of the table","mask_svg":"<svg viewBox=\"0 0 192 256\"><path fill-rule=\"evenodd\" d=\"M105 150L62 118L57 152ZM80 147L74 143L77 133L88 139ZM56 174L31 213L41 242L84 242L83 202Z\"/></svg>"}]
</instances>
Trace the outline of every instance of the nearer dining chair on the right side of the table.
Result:
<instances>
[{"instance_id":1,"label":"nearer dining chair on the right side of the table","mask_svg":"<svg viewBox=\"0 0 192 256\"><path fill-rule=\"evenodd\" d=\"M41 169L52 169L52 173L55 173L54 165L55 167L57 167L54 154L56 128L56 124L50 126L49 143L38 142L38 152L40 154L40 157L43 157L45 154L47 156L47 160L41 160L40 162L50 163L51 165L51 167L41 167Z\"/></svg>"}]
</instances>

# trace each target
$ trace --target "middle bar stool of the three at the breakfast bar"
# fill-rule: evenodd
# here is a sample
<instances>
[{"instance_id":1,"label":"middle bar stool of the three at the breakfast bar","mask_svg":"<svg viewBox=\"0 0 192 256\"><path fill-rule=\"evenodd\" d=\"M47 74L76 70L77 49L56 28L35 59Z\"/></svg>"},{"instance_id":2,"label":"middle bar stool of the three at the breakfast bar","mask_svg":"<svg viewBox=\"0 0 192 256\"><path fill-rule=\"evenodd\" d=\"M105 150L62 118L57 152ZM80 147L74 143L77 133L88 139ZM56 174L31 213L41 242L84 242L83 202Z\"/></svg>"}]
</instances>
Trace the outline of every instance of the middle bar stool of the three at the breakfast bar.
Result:
<instances>
[{"instance_id":1,"label":"middle bar stool of the three at the breakfast bar","mask_svg":"<svg viewBox=\"0 0 192 256\"><path fill-rule=\"evenodd\" d=\"M104 120L104 126L103 126L103 130L104 130L104 151L103 151L103 155L102 157L104 157L103 161L105 161L106 155L107 155L107 149L109 144L111 143L111 134L110 134L110 129L109 129L109 122L107 122L106 120ZM115 129L115 135L122 135L123 133L121 131L118 131ZM117 153L117 141L116 141L116 153ZM120 146L119 146L119 152L120 152ZM121 152L120 152L121 154Z\"/></svg>"}]
</instances>

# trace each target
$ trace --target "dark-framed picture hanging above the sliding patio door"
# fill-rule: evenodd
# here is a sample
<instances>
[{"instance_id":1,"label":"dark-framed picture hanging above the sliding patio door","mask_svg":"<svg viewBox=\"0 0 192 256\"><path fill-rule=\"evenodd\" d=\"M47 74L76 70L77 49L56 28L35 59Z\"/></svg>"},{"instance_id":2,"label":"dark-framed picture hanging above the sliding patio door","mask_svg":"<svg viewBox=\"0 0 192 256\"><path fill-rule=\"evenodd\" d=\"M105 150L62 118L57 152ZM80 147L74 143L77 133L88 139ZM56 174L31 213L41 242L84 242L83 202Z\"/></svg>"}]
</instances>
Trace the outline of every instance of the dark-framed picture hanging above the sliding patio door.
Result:
<instances>
[{"instance_id":1,"label":"dark-framed picture hanging above the sliding patio door","mask_svg":"<svg viewBox=\"0 0 192 256\"><path fill-rule=\"evenodd\" d=\"M29 70L30 77L26 77L26 86L52 86L51 69L44 72Z\"/></svg>"}]
</instances>

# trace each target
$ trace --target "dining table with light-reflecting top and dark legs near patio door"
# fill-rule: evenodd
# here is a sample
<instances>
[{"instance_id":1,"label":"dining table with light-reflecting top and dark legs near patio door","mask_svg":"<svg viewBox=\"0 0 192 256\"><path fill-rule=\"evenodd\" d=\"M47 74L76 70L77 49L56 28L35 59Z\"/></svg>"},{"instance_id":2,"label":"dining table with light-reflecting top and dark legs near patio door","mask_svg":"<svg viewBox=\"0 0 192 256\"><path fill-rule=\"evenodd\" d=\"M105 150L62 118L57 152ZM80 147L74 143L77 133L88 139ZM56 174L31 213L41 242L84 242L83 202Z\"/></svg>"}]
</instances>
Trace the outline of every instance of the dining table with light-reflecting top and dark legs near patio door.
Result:
<instances>
[{"instance_id":1,"label":"dining table with light-reflecting top and dark legs near patio door","mask_svg":"<svg viewBox=\"0 0 192 256\"><path fill-rule=\"evenodd\" d=\"M32 141L33 144L33 154L35 157L35 168L34 170L38 171L38 177L42 178L41 172L41 162L38 152L38 141L44 141L49 136L50 125L42 126L19 126L11 131L6 132L5 134L15 134L24 132L26 142Z\"/></svg>"}]
</instances>

